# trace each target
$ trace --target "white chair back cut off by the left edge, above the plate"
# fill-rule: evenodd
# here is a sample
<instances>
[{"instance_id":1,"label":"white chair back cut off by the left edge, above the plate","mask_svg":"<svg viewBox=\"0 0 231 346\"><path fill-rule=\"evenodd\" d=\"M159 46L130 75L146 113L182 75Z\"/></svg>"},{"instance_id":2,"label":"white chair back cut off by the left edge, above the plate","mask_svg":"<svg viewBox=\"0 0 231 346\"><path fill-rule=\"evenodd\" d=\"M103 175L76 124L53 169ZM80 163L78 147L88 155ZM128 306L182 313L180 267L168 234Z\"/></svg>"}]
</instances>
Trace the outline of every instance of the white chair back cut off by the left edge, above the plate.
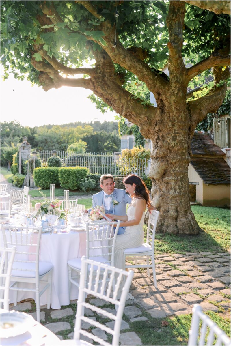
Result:
<instances>
[{"instance_id":1,"label":"white chair back cut off by the left edge, above the plate","mask_svg":"<svg viewBox=\"0 0 231 346\"><path fill-rule=\"evenodd\" d=\"M9 310L9 289L12 264L15 258L16 247L1 248L1 308Z\"/></svg>"}]
</instances>

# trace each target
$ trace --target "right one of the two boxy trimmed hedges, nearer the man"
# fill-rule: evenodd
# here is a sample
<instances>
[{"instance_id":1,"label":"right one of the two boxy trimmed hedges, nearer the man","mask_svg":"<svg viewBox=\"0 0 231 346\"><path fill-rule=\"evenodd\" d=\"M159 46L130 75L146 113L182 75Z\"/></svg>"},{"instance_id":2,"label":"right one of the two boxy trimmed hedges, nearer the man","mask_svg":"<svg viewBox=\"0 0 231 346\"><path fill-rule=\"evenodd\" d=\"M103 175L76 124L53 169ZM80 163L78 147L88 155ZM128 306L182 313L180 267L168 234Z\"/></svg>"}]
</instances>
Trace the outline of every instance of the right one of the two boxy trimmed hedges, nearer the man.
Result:
<instances>
[{"instance_id":1,"label":"right one of the two boxy trimmed hedges, nearer the man","mask_svg":"<svg viewBox=\"0 0 231 346\"><path fill-rule=\"evenodd\" d=\"M89 169L85 167L61 167L59 169L60 186L66 190L80 188L80 180L85 179Z\"/></svg>"}]
</instances>

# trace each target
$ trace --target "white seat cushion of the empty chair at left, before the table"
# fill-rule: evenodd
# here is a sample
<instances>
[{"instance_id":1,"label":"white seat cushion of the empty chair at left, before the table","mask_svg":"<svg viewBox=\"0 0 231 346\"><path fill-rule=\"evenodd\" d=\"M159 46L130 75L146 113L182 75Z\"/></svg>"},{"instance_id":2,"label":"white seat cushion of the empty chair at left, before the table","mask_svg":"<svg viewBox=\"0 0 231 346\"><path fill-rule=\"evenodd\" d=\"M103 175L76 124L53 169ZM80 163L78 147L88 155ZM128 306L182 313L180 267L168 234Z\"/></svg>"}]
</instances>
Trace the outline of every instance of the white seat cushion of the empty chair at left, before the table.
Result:
<instances>
[{"instance_id":1,"label":"white seat cushion of the empty chair at left, before the table","mask_svg":"<svg viewBox=\"0 0 231 346\"><path fill-rule=\"evenodd\" d=\"M53 264L48 262L39 262L38 273L44 275L53 268ZM24 269L30 269L26 271ZM35 277L35 262L14 262L11 276L18 277Z\"/></svg>"}]
</instances>

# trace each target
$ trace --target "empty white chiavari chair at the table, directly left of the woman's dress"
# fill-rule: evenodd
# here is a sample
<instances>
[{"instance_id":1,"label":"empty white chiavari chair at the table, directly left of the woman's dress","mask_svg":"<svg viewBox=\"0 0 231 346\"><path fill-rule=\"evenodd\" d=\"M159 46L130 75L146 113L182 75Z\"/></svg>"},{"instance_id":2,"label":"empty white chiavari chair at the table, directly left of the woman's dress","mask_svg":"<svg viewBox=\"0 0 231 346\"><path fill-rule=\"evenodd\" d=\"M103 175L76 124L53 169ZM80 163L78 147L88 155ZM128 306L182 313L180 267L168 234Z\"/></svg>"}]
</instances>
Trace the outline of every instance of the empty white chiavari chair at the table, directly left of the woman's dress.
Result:
<instances>
[{"instance_id":1,"label":"empty white chiavari chair at the table, directly left of the woman's dress","mask_svg":"<svg viewBox=\"0 0 231 346\"><path fill-rule=\"evenodd\" d=\"M115 242L120 221L114 231L114 222L97 222L86 224L86 258L100 263L114 266ZM90 230L90 232L89 232ZM91 235L90 235L91 234ZM103 254L103 252L105 252ZM74 275L72 275L74 272ZM71 283L79 287L78 279L81 272L81 258L72 258L68 261L69 297ZM95 274L95 273L92 273ZM76 280L77 279L77 280Z\"/></svg>"}]
</instances>

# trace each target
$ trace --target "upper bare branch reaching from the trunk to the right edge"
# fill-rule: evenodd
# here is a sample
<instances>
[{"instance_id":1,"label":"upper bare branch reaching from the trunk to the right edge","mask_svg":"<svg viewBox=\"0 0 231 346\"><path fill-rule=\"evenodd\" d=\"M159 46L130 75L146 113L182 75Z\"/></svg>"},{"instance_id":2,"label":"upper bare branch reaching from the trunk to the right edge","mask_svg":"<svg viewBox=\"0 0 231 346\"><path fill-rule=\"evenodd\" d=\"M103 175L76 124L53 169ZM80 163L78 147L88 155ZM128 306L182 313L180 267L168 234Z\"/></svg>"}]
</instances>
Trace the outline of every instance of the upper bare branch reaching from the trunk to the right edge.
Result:
<instances>
[{"instance_id":1,"label":"upper bare branch reaching from the trunk to the right edge","mask_svg":"<svg viewBox=\"0 0 231 346\"><path fill-rule=\"evenodd\" d=\"M196 75L210 69L213 66L230 65L230 55L222 56L219 52L213 52L208 58L187 69L187 81L189 82Z\"/></svg>"}]
</instances>

